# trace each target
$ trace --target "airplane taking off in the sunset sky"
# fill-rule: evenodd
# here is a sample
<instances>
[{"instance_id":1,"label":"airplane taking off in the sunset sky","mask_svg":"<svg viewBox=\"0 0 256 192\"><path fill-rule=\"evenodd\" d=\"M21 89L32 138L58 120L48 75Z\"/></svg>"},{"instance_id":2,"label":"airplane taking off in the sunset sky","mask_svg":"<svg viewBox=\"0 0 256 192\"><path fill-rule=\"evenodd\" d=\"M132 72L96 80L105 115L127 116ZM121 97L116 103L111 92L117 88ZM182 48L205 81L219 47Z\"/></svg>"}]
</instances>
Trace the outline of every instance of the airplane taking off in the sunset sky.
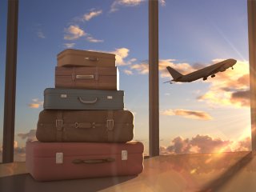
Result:
<instances>
[{"instance_id":1,"label":"airplane taking off in the sunset sky","mask_svg":"<svg viewBox=\"0 0 256 192\"><path fill-rule=\"evenodd\" d=\"M211 78L214 78L216 73L223 72L230 67L232 68L232 70L234 70L233 66L236 62L237 61L235 59L229 58L229 59L226 59L225 61L215 63L211 66L206 66L201 70L196 70L190 74L185 74L185 75L179 73L177 70L174 70L170 66L167 66L166 69L169 71L170 75L174 78L168 82L170 82L170 84L174 82L194 82L199 78L202 78L203 81L206 81L206 79L209 76Z\"/></svg>"}]
</instances>

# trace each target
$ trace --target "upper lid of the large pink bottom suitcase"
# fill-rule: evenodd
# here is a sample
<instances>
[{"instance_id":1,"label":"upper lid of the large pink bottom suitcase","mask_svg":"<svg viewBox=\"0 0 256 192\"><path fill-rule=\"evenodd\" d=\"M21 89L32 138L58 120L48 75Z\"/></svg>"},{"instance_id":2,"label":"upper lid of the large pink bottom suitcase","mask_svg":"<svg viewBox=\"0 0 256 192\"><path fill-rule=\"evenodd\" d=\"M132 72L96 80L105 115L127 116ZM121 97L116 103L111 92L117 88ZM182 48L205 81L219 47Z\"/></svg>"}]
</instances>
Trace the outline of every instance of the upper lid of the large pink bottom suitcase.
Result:
<instances>
[{"instance_id":1,"label":"upper lid of the large pink bottom suitcase","mask_svg":"<svg viewBox=\"0 0 256 192\"><path fill-rule=\"evenodd\" d=\"M110 155L122 154L126 150L129 154L142 154L144 146L142 142L132 141L126 143L106 142L26 142L26 147L32 150L35 157L55 158L56 153L66 156Z\"/></svg>"}]
</instances>

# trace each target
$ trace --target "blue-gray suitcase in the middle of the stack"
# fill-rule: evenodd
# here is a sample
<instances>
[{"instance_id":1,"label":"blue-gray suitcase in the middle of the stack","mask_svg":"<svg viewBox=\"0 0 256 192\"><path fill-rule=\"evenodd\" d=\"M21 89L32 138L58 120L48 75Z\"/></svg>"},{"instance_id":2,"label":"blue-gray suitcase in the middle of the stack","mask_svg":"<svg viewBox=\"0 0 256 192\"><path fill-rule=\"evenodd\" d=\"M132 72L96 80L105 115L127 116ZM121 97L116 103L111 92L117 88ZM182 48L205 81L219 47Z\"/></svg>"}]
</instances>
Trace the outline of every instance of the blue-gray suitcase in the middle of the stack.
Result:
<instances>
[{"instance_id":1,"label":"blue-gray suitcase in the middle of the stack","mask_svg":"<svg viewBox=\"0 0 256 192\"><path fill-rule=\"evenodd\" d=\"M123 110L123 90L47 88L45 110Z\"/></svg>"}]
</instances>

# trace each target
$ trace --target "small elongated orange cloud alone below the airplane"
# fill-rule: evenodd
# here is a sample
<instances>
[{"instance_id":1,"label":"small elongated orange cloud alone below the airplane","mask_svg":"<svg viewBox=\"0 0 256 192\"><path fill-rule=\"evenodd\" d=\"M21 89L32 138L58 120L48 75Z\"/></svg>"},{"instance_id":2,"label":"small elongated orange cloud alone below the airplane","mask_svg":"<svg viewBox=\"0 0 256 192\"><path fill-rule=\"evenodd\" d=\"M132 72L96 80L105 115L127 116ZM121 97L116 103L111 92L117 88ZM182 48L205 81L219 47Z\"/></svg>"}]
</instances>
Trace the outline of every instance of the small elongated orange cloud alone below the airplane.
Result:
<instances>
[{"instance_id":1,"label":"small elongated orange cloud alone below the airplane","mask_svg":"<svg viewBox=\"0 0 256 192\"><path fill-rule=\"evenodd\" d=\"M210 114L207 114L206 112L199 111L199 110L183 110L183 109L177 109L177 110L162 110L160 111L160 114L162 115L178 115L182 116L184 118L192 118L192 119L198 119L198 120L211 120L213 119Z\"/></svg>"}]
</instances>

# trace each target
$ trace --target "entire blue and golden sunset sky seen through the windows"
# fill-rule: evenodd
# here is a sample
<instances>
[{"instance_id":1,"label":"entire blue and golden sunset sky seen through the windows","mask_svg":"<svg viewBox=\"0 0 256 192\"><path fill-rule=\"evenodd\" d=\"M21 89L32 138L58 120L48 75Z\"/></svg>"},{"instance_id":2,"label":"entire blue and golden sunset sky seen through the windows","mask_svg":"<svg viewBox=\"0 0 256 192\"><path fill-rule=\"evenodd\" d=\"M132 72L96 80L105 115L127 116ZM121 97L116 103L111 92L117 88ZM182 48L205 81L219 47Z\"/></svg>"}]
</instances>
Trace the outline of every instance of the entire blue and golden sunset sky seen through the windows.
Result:
<instances>
[{"instance_id":1,"label":"entire blue and golden sunset sky seen through the windows","mask_svg":"<svg viewBox=\"0 0 256 192\"><path fill-rule=\"evenodd\" d=\"M0 9L1 146L7 0ZM134 113L134 139L148 154L147 1L22 0L15 160L24 160L26 140L35 138L43 90L54 87L57 54L66 48L116 54L125 108ZM234 70L215 78L163 83L170 80L166 66L187 74L226 58L238 60ZM250 150L249 89L246 0L159 1L161 154Z\"/></svg>"}]
</instances>

